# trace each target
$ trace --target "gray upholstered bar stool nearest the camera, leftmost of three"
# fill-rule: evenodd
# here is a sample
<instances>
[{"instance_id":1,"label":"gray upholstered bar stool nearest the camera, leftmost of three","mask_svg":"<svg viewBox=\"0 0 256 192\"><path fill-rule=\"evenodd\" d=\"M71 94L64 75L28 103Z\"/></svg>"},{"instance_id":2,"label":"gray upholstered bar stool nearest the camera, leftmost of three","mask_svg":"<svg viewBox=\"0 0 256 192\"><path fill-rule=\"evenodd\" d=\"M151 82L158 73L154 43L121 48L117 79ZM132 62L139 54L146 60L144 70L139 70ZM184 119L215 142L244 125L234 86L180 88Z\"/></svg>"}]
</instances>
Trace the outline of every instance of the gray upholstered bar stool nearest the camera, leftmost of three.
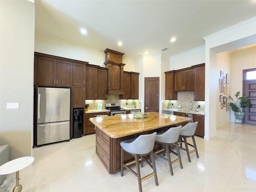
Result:
<instances>
[{"instance_id":1,"label":"gray upholstered bar stool nearest the camera, leftmost of three","mask_svg":"<svg viewBox=\"0 0 256 192\"><path fill-rule=\"evenodd\" d=\"M132 174L137 176L140 192L142 192L141 183L147 180L148 178L151 178L152 176L155 177L156 186L158 186L158 180L156 175L156 164L155 164L154 152L153 152L155 139L156 139L156 132L152 134L147 134L147 135L140 135L138 136L138 138L125 140L120 143L121 145L121 176L124 175L124 167L128 169L130 172L132 172ZM132 154L135 158L135 161L124 164L124 151ZM150 154L152 164L150 164L150 162L148 162L148 160L144 157L148 154ZM140 162L139 162L140 157L144 161L146 161L146 163L153 169L153 172L151 174L148 174L143 178L141 178L140 176ZM137 173L134 170L132 170L130 167L128 167L129 165L134 163L136 163Z\"/></svg>"}]
</instances>

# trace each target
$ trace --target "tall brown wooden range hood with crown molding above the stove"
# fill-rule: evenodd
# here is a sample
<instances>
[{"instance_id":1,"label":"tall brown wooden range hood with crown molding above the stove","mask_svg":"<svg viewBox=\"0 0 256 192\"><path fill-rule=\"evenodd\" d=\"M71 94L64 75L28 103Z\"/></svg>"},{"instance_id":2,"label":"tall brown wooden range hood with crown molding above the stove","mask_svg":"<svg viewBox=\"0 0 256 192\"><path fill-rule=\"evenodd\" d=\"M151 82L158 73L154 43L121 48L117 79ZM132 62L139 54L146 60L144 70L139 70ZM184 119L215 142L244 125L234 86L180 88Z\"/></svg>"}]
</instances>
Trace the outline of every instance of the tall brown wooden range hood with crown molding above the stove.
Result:
<instances>
[{"instance_id":1,"label":"tall brown wooden range hood with crown molding above the stove","mask_svg":"<svg viewBox=\"0 0 256 192\"><path fill-rule=\"evenodd\" d=\"M124 95L123 77L125 64L122 63L124 53L111 49L106 49L104 53L106 54L104 65L108 68L107 94Z\"/></svg>"}]
</instances>

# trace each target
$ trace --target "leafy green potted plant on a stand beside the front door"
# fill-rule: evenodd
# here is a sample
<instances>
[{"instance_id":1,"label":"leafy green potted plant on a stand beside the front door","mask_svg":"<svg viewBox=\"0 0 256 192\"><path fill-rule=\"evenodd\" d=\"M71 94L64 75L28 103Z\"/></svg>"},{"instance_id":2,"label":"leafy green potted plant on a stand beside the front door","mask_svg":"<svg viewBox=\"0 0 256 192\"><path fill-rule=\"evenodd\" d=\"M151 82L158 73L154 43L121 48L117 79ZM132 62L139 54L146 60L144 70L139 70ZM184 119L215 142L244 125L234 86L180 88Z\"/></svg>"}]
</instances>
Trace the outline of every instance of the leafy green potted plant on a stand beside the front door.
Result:
<instances>
[{"instance_id":1,"label":"leafy green potted plant on a stand beside the front door","mask_svg":"<svg viewBox=\"0 0 256 192\"><path fill-rule=\"evenodd\" d=\"M234 100L231 96L229 98L233 101L230 102L231 110L234 111L235 118L238 119L240 122L243 123L244 120L244 108L251 107L252 104L250 102L250 99L247 96L239 97L240 91L236 92L235 97L236 100Z\"/></svg>"}]
</instances>

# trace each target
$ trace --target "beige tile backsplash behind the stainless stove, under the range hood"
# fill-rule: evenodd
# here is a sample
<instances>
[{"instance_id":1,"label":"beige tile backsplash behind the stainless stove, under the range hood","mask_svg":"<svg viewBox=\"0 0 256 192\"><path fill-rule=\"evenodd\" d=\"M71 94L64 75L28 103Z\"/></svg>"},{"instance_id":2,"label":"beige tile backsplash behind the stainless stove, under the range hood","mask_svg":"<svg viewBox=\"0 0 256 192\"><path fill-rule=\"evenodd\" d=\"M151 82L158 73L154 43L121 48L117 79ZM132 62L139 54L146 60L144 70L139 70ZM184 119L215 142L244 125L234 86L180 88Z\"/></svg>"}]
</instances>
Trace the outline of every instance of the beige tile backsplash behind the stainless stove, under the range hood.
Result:
<instances>
[{"instance_id":1,"label":"beige tile backsplash behind the stainless stove, under the range hood","mask_svg":"<svg viewBox=\"0 0 256 192\"><path fill-rule=\"evenodd\" d=\"M89 110L91 109L98 109L98 104L102 103L102 108L105 108L106 103L120 103L120 106L126 107L127 105L132 105L132 99L119 99L119 95L114 95L114 94L108 94L107 95L107 100L85 100L86 104L89 104L90 106L88 107ZM136 108L141 108L141 102L138 99L134 100L136 102Z\"/></svg>"}]
</instances>

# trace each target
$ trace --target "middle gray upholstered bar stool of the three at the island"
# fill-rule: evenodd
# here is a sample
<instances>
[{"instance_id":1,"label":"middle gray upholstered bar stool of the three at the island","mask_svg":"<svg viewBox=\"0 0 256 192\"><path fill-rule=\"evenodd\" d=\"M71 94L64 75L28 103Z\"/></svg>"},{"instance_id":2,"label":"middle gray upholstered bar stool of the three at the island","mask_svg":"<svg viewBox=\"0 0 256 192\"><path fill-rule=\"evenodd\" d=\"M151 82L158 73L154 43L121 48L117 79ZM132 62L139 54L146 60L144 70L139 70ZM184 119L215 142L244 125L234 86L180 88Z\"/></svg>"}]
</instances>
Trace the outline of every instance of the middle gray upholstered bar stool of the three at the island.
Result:
<instances>
[{"instance_id":1,"label":"middle gray upholstered bar stool of the three at the island","mask_svg":"<svg viewBox=\"0 0 256 192\"><path fill-rule=\"evenodd\" d=\"M181 126L172 127L170 129L168 129L166 132L156 135L156 143L162 144L164 146L164 149L156 151L154 153L154 155L168 161L171 175L173 175L172 164L174 164L176 162L180 162L180 168L183 169L182 161L181 161L181 158L180 158L180 150L179 150L179 147L178 147L180 128L181 128ZM175 145L175 147L176 147L176 152L171 150L171 146L173 146L173 145ZM158 154L162 151L164 152L164 154L166 152L167 158ZM173 154L175 154L176 156L178 156L178 158L174 161L171 160L171 156L170 156L171 152Z\"/></svg>"}]
</instances>

